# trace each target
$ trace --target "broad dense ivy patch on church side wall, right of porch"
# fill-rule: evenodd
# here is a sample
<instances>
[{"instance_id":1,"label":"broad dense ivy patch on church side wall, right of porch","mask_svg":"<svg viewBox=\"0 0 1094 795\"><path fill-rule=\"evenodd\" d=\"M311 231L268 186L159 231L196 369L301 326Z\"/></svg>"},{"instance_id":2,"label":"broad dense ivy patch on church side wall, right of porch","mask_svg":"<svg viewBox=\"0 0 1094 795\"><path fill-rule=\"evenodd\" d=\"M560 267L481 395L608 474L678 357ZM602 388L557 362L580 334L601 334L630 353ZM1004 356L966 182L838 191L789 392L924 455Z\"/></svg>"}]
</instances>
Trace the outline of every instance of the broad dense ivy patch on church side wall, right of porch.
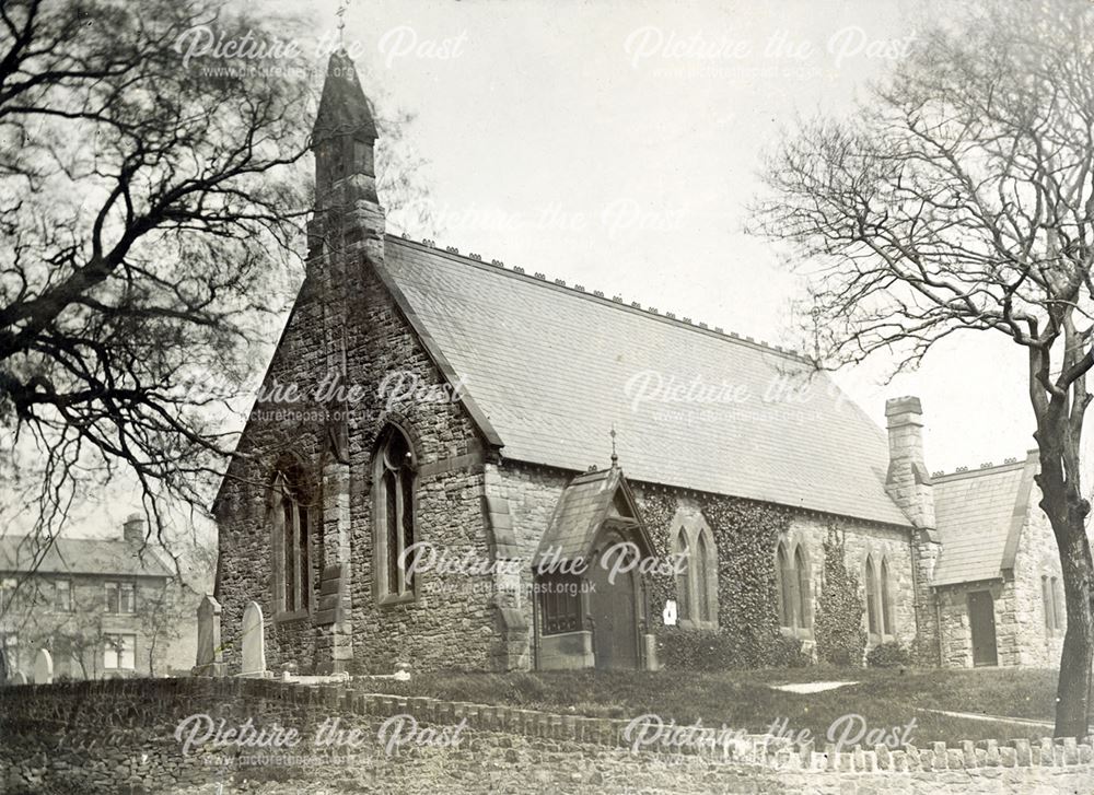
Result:
<instances>
[{"instance_id":1,"label":"broad dense ivy patch on church side wall, right of porch","mask_svg":"<svg viewBox=\"0 0 1094 795\"><path fill-rule=\"evenodd\" d=\"M639 503L656 554L668 556L676 496L647 492ZM647 577L650 623L659 634L662 657L667 664L682 667L787 665L788 654L779 634L775 547L779 535L790 525L789 511L715 495L700 498L699 504L718 549L719 630L714 635L663 627L661 612L665 600L676 598L675 578L650 575ZM702 642L701 635L709 641ZM718 659L705 658L709 656Z\"/></svg>"}]
</instances>

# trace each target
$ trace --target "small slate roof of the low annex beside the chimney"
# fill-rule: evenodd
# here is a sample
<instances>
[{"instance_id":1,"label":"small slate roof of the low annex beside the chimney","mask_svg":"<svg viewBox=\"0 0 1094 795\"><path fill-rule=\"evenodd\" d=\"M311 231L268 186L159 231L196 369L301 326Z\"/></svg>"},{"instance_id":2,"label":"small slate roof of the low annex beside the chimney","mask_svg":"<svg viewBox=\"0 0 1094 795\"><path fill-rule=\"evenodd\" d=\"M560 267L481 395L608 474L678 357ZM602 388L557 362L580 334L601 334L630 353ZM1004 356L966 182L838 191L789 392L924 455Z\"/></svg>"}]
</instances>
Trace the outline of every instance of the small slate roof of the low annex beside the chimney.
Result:
<instances>
[{"instance_id":1,"label":"small slate roof of the low annex beside the chimney","mask_svg":"<svg viewBox=\"0 0 1094 795\"><path fill-rule=\"evenodd\" d=\"M934 516L942 552L932 585L999 580L1029 506L1036 455L1024 461L934 476Z\"/></svg>"}]
</instances>

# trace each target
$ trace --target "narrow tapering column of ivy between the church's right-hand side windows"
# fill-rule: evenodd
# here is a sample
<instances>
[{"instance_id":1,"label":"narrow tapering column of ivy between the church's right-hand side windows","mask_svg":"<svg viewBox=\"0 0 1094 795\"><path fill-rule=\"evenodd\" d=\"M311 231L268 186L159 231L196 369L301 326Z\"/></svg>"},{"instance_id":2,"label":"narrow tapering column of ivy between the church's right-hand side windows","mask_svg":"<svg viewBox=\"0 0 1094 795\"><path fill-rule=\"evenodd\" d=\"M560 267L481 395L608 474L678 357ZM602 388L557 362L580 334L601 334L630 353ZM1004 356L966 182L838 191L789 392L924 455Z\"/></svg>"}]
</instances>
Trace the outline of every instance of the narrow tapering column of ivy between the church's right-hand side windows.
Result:
<instances>
[{"instance_id":1,"label":"narrow tapering column of ivy between the church's right-hand side windows","mask_svg":"<svg viewBox=\"0 0 1094 795\"><path fill-rule=\"evenodd\" d=\"M817 658L831 665L861 665L866 648L862 597L859 578L847 568L843 531L829 525L823 543L824 586L813 622Z\"/></svg>"}]
</instances>

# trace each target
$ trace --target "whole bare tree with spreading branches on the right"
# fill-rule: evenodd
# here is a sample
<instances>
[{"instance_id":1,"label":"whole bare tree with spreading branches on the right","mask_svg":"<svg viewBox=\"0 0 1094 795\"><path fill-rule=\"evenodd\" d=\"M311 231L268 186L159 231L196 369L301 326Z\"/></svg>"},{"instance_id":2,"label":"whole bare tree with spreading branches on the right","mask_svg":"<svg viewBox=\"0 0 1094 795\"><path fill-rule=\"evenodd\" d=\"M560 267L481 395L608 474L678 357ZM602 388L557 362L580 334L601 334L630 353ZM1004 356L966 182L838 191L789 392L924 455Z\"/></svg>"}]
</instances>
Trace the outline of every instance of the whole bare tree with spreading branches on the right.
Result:
<instances>
[{"instance_id":1,"label":"whole bare tree with spreading branches on the right","mask_svg":"<svg viewBox=\"0 0 1094 795\"><path fill-rule=\"evenodd\" d=\"M1086 734L1094 654L1080 441L1094 365L1094 8L988 3L938 23L846 119L803 120L765 167L756 231L810 273L821 366L915 366L961 331L1028 362L1040 506L1068 630L1056 734Z\"/></svg>"}]
</instances>

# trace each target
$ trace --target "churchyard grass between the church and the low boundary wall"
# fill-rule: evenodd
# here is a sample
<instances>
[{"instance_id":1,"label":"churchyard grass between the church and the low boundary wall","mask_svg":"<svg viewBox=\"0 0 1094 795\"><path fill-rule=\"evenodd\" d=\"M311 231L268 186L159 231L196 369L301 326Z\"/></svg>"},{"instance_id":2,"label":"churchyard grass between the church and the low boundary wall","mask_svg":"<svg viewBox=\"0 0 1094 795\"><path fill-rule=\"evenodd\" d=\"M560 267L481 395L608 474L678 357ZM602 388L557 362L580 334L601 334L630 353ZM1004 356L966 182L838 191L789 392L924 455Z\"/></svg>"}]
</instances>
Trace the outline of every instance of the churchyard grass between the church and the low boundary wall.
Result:
<instances>
[{"instance_id":1,"label":"churchyard grass between the church and the low boundary wall","mask_svg":"<svg viewBox=\"0 0 1094 795\"><path fill-rule=\"evenodd\" d=\"M377 692L427 695L451 701L508 704L523 709L589 715L637 717L655 713L663 721L703 726L725 725L763 732L785 718L793 732L810 729L824 737L837 718L861 715L871 727L906 726L911 741L957 743L965 739L1031 739L1051 734L1045 726L941 715L930 710L1052 720L1054 670L1045 669L863 669L795 668L684 671L540 671L417 674L409 682L371 679ZM853 681L816 693L775 690L772 685Z\"/></svg>"}]
</instances>

